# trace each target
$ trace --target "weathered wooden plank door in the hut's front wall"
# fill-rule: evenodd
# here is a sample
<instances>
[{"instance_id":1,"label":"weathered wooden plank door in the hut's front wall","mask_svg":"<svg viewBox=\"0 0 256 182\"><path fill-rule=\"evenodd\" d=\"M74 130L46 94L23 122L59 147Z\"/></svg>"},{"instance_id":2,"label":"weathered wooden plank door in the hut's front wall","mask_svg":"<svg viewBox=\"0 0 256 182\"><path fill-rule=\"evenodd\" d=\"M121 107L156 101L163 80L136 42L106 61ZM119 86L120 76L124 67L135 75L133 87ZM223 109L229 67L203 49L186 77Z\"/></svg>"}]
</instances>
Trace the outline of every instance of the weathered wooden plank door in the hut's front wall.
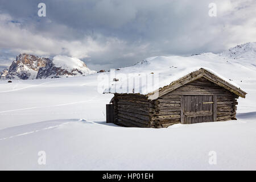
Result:
<instances>
[{"instance_id":1,"label":"weathered wooden plank door in the hut's front wall","mask_svg":"<svg viewBox=\"0 0 256 182\"><path fill-rule=\"evenodd\" d=\"M181 123L213 121L213 96L182 96Z\"/></svg>"}]
</instances>

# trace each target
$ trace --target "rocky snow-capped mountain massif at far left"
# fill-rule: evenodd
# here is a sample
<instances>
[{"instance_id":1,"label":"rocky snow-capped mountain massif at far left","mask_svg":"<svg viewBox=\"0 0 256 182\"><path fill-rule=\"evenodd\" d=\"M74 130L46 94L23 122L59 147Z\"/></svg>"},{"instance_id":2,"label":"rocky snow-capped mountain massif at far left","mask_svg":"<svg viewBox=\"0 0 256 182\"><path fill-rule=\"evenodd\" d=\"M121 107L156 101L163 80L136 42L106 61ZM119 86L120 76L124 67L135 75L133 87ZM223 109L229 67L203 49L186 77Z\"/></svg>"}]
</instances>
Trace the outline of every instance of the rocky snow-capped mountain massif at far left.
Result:
<instances>
[{"instance_id":1,"label":"rocky snow-capped mountain massif at far left","mask_svg":"<svg viewBox=\"0 0 256 182\"><path fill-rule=\"evenodd\" d=\"M46 57L23 53L16 56L16 60L13 61L9 69L4 69L0 73L0 78L31 80L89 75L92 73L96 73L96 71L91 71L84 62L73 57L59 55L50 60Z\"/></svg>"}]
</instances>

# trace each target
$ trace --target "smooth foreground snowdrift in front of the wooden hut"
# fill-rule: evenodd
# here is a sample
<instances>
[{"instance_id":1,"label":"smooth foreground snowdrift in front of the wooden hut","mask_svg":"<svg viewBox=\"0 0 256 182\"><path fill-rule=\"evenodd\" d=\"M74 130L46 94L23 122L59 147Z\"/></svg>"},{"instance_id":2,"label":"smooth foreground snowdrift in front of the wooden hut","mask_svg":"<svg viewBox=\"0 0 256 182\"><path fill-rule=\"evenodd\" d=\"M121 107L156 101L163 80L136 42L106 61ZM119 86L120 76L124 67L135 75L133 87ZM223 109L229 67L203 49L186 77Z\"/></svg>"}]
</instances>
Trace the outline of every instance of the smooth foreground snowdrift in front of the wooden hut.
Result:
<instances>
[{"instance_id":1,"label":"smooth foreground snowdrift in front of the wooden hut","mask_svg":"<svg viewBox=\"0 0 256 182\"><path fill-rule=\"evenodd\" d=\"M256 169L249 119L167 129L61 119L4 129L1 137L1 169ZM46 165L38 164L39 151ZM209 151L217 152L216 165Z\"/></svg>"}]
</instances>

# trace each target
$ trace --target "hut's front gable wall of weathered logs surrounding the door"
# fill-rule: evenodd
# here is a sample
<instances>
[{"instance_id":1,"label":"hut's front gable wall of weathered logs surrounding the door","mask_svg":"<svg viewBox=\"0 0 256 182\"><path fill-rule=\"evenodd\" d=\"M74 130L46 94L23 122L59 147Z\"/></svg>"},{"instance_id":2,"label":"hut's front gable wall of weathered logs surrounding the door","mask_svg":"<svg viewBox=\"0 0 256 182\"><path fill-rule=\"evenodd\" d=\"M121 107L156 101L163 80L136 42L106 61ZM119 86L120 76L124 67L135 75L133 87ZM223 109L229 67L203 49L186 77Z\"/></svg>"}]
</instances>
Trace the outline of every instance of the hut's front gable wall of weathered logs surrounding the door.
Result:
<instances>
[{"instance_id":1,"label":"hut's front gable wall of weathered logs surrounding the door","mask_svg":"<svg viewBox=\"0 0 256 182\"><path fill-rule=\"evenodd\" d=\"M238 96L202 77L155 100L156 112L159 113L155 121L159 127L182 123L182 107L185 105L181 102L183 96L213 96L213 121L236 119L238 103L235 98Z\"/></svg>"}]
</instances>

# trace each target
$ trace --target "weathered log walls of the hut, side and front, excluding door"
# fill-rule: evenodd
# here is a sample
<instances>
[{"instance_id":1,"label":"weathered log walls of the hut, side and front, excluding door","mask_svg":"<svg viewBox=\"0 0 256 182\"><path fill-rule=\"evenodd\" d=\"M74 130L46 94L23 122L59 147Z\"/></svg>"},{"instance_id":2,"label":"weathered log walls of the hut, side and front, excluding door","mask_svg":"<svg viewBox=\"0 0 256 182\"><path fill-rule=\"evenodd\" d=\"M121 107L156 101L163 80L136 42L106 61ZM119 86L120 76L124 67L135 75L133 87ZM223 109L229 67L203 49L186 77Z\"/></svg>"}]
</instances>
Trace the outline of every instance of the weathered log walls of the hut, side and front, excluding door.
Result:
<instances>
[{"instance_id":1,"label":"weathered log walls of the hut, side and front, excluding door","mask_svg":"<svg viewBox=\"0 0 256 182\"><path fill-rule=\"evenodd\" d=\"M191 95L213 96L213 121L236 119L238 96L206 78L199 78L153 101L140 94L115 94L115 123L127 127L168 127L180 123L181 99Z\"/></svg>"}]
</instances>

